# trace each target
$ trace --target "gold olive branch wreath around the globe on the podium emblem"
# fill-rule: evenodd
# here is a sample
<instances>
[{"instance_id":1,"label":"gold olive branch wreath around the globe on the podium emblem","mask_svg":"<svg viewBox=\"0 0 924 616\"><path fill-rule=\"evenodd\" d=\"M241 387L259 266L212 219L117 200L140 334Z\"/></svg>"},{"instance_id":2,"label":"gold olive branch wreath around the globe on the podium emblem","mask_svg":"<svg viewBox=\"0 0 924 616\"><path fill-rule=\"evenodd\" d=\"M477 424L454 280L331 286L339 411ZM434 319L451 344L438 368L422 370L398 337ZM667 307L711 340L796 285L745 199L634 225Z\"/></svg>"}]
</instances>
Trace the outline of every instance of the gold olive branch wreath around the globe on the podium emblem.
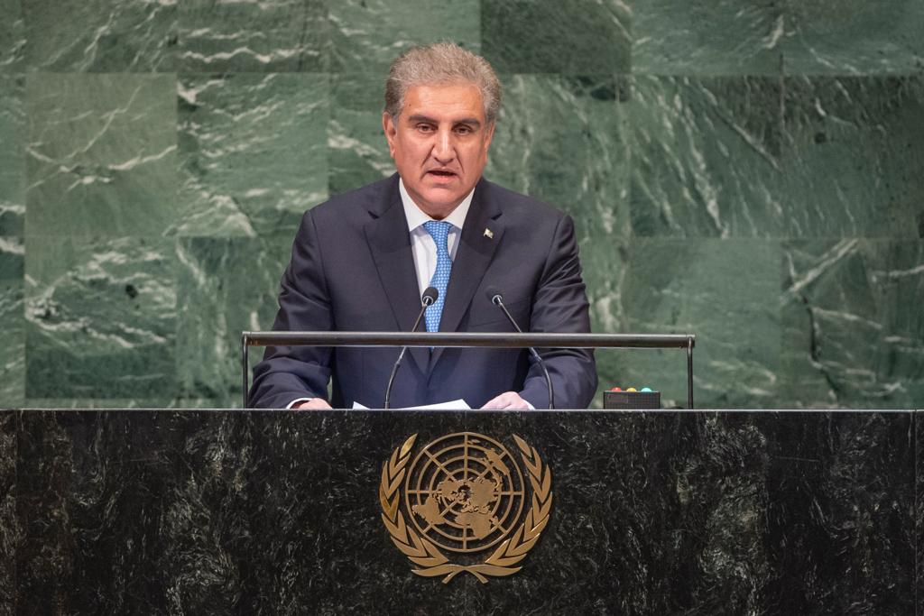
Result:
<instances>
[{"instance_id":1,"label":"gold olive branch wreath around the globe on the podium emblem","mask_svg":"<svg viewBox=\"0 0 924 616\"><path fill-rule=\"evenodd\" d=\"M486 575L516 574L522 567L515 565L526 558L529 550L532 550L539 540L545 525L549 523L549 514L552 512L552 470L542 464L539 453L530 447L529 443L515 434L514 441L520 449L523 464L529 470L529 483L532 485L532 503L526 519L484 562L472 565L456 564L449 562L443 552L427 537L421 537L405 524L404 515L398 509L401 481L405 478L410 450L416 439L417 434L412 434L404 444L395 449L391 459L382 466L382 482L379 484L382 521L397 549L411 562L419 565L419 569L411 571L424 577L445 575L444 584L448 584L449 580L462 572L474 575L481 584L488 582Z\"/></svg>"}]
</instances>

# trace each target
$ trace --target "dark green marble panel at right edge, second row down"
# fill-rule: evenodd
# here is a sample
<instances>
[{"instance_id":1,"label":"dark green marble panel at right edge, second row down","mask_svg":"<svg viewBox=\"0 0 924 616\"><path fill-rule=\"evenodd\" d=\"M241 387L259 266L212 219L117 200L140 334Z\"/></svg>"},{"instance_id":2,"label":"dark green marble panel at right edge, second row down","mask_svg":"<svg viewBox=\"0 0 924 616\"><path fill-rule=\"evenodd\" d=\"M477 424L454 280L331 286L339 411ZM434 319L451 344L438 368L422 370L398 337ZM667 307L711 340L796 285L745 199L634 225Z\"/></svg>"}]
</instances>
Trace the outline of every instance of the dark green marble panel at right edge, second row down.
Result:
<instances>
[{"instance_id":1,"label":"dark green marble panel at right edge, second row down","mask_svg":"<svg viewBox=\"0 0 924 616\"><path fill-rule=\"evenodd\" d=\"M924 78L784 87L784 234L924 237Z\"/></svg>"}]
</instances>

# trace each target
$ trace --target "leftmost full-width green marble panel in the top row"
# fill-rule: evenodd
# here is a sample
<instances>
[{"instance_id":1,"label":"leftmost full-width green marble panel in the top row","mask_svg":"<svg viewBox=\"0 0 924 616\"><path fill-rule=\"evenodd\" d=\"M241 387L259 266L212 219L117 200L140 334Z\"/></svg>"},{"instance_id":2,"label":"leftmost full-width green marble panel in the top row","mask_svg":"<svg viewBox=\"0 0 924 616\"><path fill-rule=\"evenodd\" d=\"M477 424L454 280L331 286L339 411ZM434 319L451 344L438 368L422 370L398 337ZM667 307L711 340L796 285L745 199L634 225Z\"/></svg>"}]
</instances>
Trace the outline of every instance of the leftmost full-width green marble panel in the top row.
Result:
<instances>
[{"instance_id":1,"label":"leftmost full-width green marble panel in the top row","mask_svg":"<svg viewBox=\"0 0 924 616\"><path fill-rule=\"evenodd\" d=\"M23 2L26 61L49 72L175 70L176 0Z\"/></svg>"}]
</instances>

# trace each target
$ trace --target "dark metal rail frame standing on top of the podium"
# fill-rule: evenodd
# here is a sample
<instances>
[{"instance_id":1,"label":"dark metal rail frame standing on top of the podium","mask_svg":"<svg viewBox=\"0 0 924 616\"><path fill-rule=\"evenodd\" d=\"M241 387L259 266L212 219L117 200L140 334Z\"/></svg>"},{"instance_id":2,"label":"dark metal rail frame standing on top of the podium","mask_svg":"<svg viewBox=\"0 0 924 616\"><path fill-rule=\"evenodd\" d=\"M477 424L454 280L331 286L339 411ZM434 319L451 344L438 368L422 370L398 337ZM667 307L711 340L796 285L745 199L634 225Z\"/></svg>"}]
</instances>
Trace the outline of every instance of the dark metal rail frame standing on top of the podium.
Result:
<instances>
[{"instance_id":1,"label":"dark metal rail frame standing on top of the podium","mask_svg":"<svg viewBox=\"0 0 924 616\"><path fill-rule=\"evenodd\" d=\"M251 346L486 346L489 348L687 349L687 407L693 408L693 347L688 333L494 333L494 332L242 332L244 405L250 389Z\"/></svg>"}]
</instances>

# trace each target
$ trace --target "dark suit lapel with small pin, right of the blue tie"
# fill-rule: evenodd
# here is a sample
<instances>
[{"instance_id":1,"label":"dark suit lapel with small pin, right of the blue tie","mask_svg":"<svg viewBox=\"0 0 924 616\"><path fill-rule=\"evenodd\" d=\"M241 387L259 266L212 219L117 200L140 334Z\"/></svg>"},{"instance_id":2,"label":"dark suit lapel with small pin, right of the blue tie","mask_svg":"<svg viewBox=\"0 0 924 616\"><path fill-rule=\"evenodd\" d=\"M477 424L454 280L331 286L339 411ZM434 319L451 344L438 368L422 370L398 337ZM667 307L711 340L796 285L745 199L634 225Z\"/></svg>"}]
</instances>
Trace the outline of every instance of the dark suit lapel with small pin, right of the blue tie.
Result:
<instances>
[{"instance_id":1,"label":"dark suit lapel with small pin, right of the blue tie","mask_svg":"<svg viewBox=\"0 0 924 616\"><path fill-rule=\"evenodd\" d=\"M468 210L465 224L462 226L462 237L456 250L456 260L453 261L453 271L449 277L449 286L446 288L446 302L443 316L440 318L440 332L456 332L459 321L468 310L472 297L478 289L484 272L494 256L494 250L501 243L504 236L504 223L499 220L500 207L484 199L484 180L475 188L471 207ZM442 348L433 350L430 368L432 369L440 356Z\"/></svg>"}]
</instances>

